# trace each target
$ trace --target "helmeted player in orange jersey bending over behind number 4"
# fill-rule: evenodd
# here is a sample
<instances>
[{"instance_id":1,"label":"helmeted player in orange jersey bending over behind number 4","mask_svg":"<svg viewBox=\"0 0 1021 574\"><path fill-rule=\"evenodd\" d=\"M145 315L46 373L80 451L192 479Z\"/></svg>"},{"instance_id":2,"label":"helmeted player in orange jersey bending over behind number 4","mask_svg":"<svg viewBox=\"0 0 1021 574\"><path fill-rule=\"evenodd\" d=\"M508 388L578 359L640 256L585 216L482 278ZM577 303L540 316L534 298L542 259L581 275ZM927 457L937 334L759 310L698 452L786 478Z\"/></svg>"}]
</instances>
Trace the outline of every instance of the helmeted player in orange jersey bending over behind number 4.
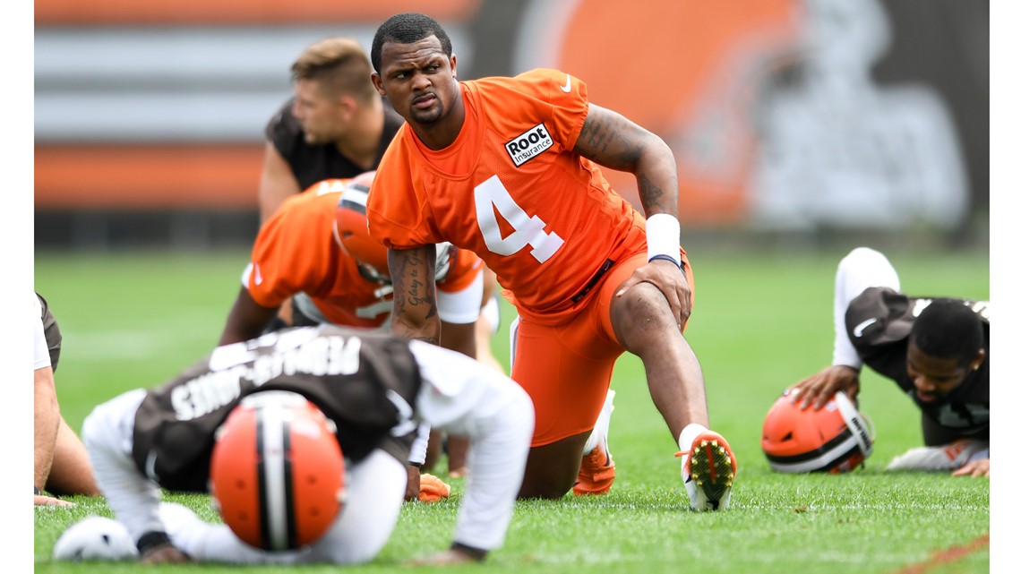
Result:
<instances>
[{"instance_id":1,"label":"helmeted player in orange jersey bending over behind number 4","mask_svg":"<svg viewBox=\"0 0 1021 574\"><path fill-rule=\"evenodd\" d=\"M301 312L294 316L297 326L385 326L393 308L386 249L366 230L364 196L373 175L325 180L281 204L255 239L220 344L258 337L289 299ZM482 261L475 253L449 245L440 252L439 317L451 334L443 346L475 358ZM435 436L424 459L415 461L425 472L436 464L439 440ZM447 445L448 468L452 476L459 476L468 442L448 437ZM408 498L419 494L418 475L411 470Z\"/></svg>"}]
</instances>

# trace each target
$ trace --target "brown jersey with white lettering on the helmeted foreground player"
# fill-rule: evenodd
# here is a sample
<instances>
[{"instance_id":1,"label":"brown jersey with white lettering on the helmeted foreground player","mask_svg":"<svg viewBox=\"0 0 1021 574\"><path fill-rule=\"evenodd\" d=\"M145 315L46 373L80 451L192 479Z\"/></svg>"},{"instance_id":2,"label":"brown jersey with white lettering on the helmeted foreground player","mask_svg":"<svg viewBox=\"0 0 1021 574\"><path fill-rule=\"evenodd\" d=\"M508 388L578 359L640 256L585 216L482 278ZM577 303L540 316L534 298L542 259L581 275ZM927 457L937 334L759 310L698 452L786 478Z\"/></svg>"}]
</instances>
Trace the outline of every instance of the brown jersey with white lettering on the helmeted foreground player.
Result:
<instances>
[{"instance_id":1,"label":"brown jersey with white lettering on the helmeted foreground player","mask_svg":"<svg viewBox=\"0 0 1021 574\"><path fill-rule=\"evenodd\" d=\"M135 416L132 456L168 490L204 492L215 430L242 397L302 394L337 425L344 457L382 448L404 462L422 377L408 341L336 326L285 329L217 347L147 392Z\"/></svg>"}]
</instances>

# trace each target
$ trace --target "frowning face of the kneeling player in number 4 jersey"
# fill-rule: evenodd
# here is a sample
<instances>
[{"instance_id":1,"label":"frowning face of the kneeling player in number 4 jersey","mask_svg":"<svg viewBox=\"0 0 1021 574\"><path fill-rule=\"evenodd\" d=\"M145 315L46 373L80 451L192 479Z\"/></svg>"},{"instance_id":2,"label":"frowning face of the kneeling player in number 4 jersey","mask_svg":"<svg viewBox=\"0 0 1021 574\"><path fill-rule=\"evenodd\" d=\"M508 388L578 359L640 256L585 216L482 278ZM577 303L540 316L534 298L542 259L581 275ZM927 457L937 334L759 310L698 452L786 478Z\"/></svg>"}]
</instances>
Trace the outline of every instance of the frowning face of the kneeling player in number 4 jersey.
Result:
<instances>
[{"instance_id":1,"label":"frowning face of the kneeling player in number 4 jersey","mask_svg":"<svg viewBox=\"0 0 1021 574\"><path fill-rule=\"evenodd\" d=\"M380 74L373 75L373 83L408 123L433 126L456 101L456 57L448 58L440 41L430 36L412 44L383 44Z\"/></svg>"}]
</instances>

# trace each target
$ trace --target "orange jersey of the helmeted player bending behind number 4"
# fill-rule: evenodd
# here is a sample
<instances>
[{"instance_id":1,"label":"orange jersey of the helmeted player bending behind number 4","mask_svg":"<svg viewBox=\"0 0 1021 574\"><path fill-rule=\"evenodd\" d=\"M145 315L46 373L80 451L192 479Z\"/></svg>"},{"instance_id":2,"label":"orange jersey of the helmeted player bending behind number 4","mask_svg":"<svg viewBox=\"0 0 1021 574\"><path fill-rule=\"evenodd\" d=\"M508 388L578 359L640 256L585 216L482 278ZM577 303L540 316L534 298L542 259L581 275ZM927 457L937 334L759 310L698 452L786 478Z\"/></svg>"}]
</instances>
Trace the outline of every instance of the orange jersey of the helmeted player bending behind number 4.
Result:
<instances>
[{"instance_id":1,"label":"orange jersey of the helmeted player bending behind number 4","mask_svg":"<svg viewBox=\"0 0 1021 574\"><path fill-rule=\"evenodd\" d=\"M333 324L372 328L386 322L393 295L376 295L381 285L361 276L335 237L342 192L342 184L312 186L289 197L263 224L243 278L255 302L277 307L303 291ZM481 261L464 249L451 256L450 271L437 288L457 292L475 281Z\"/></svg>"}]
</instances>

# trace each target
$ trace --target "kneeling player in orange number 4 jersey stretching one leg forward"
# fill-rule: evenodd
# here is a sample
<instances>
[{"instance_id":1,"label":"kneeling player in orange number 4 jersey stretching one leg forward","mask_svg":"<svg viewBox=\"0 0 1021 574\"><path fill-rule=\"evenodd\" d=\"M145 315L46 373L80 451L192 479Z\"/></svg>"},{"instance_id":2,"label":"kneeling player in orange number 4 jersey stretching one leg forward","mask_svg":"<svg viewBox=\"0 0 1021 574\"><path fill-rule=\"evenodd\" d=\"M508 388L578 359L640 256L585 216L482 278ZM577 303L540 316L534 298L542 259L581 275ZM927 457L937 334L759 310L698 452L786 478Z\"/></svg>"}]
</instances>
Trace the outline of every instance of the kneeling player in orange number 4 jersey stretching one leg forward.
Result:
<instances>
[{"instance_id":1,"label":"kneeling player in orange number 4 jersey stretching one leg forward","mask_svg":"<svg viewBox=\"0 0 1021 574\"><path fill-rule=\"evenodd\" d=\"M519 313L512 377L536 408L520 496L609 490L607 391L629 351L681 450L691 508L726 508L736 459L709 429L701 368L682 335L693 290L670 148L560 70L458 82L449 38L424 14L389 18L370 55L376 89L405 121L368 201L370 234L390 249L392 329L446 337L434 244L474 251L496 273ZM634 174L647 221L598 165Z\"/></svg>"}]
</instances>

